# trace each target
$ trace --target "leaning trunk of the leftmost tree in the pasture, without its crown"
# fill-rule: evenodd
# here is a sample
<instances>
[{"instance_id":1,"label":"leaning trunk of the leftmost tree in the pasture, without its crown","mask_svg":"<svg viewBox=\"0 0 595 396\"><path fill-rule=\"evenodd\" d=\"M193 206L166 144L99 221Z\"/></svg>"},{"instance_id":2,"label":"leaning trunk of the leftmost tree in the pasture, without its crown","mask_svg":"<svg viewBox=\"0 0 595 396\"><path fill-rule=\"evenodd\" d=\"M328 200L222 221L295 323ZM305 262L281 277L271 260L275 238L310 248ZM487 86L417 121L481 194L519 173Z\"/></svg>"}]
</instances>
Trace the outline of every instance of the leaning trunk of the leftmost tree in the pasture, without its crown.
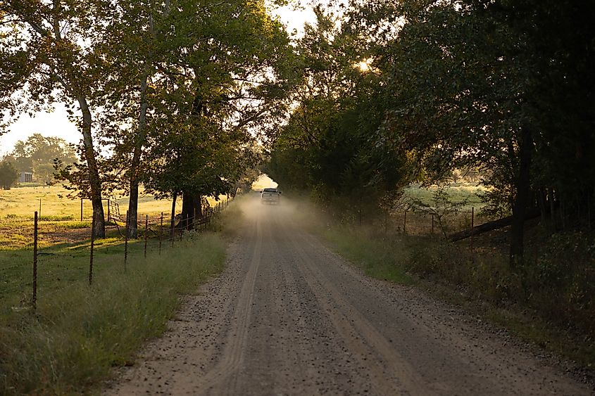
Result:
<instances>
[{"instance_id":1,"label":"leaning trunk of the leftmost tree in the pasture, without its crown","mask_svg":"<svg viewBox=\"0 0 595 396\"><path fill-rule=\"evenodd\" d=\"M82 144L84 146L84 156L87 158L89 167L89 186L91 187L91 204L93 206L93 226L96 238L105 238L106 219L104 217L104 205L101 203L101 178L93 150L93 138L91 134L91 110L87 103L87 98L78 96L77 101L82 112Z\"/></svg>"}]
</instances>

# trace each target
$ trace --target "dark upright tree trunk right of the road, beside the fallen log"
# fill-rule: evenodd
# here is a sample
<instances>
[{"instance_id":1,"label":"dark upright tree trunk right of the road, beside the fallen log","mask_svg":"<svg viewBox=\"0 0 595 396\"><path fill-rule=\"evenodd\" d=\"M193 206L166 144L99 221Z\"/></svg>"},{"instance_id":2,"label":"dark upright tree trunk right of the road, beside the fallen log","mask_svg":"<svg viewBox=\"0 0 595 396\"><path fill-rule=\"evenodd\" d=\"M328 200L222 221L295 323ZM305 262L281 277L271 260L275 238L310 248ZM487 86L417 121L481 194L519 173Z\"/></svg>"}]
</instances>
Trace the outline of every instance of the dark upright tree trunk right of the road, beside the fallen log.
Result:
<instances>
[{"instance_id":1,"label":"dark upright tree trunk right of the road, beside the fallen log","mask_svg":"<svg viewBox=\"0 0 595 396\"><path fill-rule=\"evenodd\" d=\"M533 136L530 129L524 127L521 132L519 147L519 167L516 181L516 196L513 206L513 223L511 226L510 265L515 268L522 263L524 246L525 215L531 195L531 160L533 153Z\"/></svg>"}]
</instances>

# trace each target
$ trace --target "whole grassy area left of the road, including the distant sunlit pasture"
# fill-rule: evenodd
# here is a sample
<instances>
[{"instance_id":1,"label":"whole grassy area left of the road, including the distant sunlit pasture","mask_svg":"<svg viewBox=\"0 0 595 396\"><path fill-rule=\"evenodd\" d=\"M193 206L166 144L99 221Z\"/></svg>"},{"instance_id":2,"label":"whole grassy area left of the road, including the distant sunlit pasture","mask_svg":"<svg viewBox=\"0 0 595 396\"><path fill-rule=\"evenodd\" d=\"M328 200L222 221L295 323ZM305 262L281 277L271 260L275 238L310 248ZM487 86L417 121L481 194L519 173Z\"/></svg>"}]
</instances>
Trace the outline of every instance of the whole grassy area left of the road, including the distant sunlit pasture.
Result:
<instances>
[{"instance_id":1,"label":"whole grassy area left of the road, including the distant sunlit pasture","mask_svg":"<svg viewBox=\"0 0 595 396\"><path fill-rule=\"evenodd\" d=\"M166 232L163 243L150 233L146 250L142 238L128 241L126 260L124 238L111 226L108 238L94 241L91 267L90 205L84 202L81 222L80 200L59 198L62 193L58 187L0 191L2 395L94 392L113 367L134 362L144 340L165 330L180 295L223 269L226 233L213 230L240 217L232 205L204 232L165 241ZM32 213L40 198L33 305ZM120 199L125 210L127 198ZM139 213L155 217L169 205L144 196Z\"/></svg>"}]
</instances>

